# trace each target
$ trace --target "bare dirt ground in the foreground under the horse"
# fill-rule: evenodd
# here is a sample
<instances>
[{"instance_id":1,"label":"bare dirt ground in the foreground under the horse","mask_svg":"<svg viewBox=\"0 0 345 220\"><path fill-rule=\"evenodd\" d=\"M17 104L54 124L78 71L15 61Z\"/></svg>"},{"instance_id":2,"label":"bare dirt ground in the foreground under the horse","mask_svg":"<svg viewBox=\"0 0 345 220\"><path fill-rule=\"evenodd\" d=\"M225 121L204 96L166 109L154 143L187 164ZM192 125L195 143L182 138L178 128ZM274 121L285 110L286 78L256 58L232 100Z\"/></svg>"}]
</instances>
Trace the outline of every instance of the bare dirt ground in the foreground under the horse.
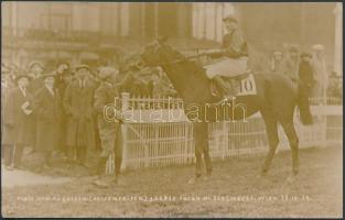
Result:
<instances>
[{"instance_id":1,"label":"bare dirt ground in the foreground under the horse","mask_svg":"<svg viewBox=\"0 0 345 220\"><path fill-rule=\"evenodd\" d=\"M301 150L293 183L290 152L276 155L266 178L263 155L214 163L208 180L188 185L193 166L126 172L125 186L62 184L2 186L3 217L342 217L343 148Z\"/></svg>"}]
</instances>

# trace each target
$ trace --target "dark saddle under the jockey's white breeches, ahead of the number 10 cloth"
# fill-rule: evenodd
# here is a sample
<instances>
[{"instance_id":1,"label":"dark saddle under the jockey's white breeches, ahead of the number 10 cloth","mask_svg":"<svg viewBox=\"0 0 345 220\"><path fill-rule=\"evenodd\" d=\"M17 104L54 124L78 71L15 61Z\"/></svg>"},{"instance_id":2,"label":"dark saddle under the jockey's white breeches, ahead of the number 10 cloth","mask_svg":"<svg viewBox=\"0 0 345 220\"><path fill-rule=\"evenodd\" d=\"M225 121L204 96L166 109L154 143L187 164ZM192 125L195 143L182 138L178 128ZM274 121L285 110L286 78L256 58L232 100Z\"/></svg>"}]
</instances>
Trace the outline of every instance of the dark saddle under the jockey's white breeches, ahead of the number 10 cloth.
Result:
<instances>
[{"instance_id":1,"label":"dark saddle under the jockey's white breeches, ahead of the number 10 cloth","mask_svg":"<svg viewBox=\"0 0 345 220\"><path fill-rule=\"evenodd\" d=\"M215 97L230 98L241 90L241 81L248 78L250 70L231 77L216 76L212 79L211 92Z\"/></svg>"}]
</instances>

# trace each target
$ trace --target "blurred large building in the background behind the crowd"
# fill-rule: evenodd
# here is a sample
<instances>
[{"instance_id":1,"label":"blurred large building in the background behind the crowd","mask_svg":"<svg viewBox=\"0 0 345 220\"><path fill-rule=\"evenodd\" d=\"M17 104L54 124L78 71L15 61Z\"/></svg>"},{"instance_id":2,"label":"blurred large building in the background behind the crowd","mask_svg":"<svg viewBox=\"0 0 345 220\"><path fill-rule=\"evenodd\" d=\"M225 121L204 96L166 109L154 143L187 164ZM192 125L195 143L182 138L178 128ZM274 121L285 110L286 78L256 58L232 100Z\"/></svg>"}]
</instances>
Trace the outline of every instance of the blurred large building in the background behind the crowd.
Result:
<instances>
[{"instance_id":1,"label":"blurred large building in the background behind the crowd","mask_svg":"<svg viewBox=\"0 0 345 220\"><path fill-rule=\"evenodd\" d=\"M235 13L255 58L284 44L305 51L317 43L325 46L330 68L342 72L342 7L336 3L2 2L1 12L2 61L21 64L117 57L159 35L179 48L217 46L222 18Z\"/></svg>"}]
</instances>

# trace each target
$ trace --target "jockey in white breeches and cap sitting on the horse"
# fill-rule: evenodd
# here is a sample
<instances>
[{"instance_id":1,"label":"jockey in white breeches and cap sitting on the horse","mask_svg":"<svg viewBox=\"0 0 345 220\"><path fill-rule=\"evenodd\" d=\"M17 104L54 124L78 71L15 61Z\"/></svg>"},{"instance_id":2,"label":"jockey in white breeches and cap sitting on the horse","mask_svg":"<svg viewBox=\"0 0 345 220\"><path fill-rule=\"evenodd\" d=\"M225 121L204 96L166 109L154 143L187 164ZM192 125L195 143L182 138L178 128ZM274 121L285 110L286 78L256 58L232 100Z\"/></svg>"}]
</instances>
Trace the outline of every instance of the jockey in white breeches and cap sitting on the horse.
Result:
<instances>
[{"instance_id":1,"label":"jockey in white breeches and cap sitting on the horse","mask_svg":"<svg viewBox=\"0 0 345 220\"><path fill-rule=\"evenodd\" d=\"M215 79L220 88L227 88L220 76L231 77L247 72L248 45L234 15L225 16L223 22L227 33L223 37L222 48L206 53L209 57L219 58L219 61L205 68L208 78Z\"/></svg>"}]
</instances>

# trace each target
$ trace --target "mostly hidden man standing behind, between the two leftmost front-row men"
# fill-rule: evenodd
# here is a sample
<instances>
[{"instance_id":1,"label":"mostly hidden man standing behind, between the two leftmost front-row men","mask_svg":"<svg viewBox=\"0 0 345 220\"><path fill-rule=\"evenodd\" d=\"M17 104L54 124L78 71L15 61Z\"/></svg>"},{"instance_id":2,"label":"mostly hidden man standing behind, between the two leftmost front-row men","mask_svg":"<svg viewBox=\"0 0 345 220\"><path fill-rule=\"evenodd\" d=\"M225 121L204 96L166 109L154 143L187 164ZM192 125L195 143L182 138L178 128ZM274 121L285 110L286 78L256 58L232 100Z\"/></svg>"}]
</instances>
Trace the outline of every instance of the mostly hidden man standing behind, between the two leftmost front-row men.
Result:
<instances>
[{"instance_id":1,"label":"mostly hidden man standing behind, between the two leftmost front-row men","mask_svg":"<svg viewBox=\"0 0 345 220\"><path fill-rule=\"evenodd\" d=\"M36 94L39 89L41 89L44 86L43 82L43 72L44 72L44 66L40 62L31 62L28 66L28 75L31 77L30 85L28 87L28 90L30 94L33 96ZM36 146L36 114L31 114L30 116L30 146L32 146L32 150L30 153L35 152L35 146Z\"/></svg>"}]
</instances>

